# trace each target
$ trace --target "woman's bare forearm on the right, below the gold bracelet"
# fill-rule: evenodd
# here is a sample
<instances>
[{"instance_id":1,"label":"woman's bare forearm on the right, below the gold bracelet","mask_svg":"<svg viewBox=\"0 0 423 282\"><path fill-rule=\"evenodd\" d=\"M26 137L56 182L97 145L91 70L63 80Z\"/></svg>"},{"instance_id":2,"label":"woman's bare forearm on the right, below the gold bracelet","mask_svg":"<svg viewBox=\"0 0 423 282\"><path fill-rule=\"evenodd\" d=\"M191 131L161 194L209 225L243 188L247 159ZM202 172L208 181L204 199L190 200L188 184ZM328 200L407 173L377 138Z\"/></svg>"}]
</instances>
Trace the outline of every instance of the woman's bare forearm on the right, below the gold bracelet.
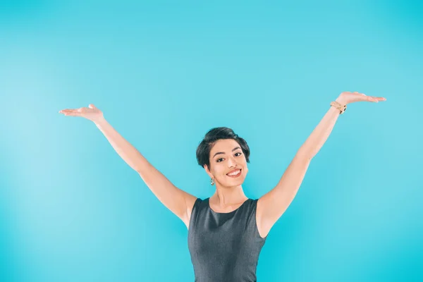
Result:
<instances>
[{"instance_id":1,"label":"woman's bare forearm on the right, below the gold bracelet","mask_svg":"<svg viewBox=\"0 0 423 282\"><path fill-rule=\"evenodd\" d=\"M345 104L345 102L343 102L343 100L340 98L336 99L336 102ZM304 144L300 147L298 150L298 155L306 157L307 159L312 159L324 145L329 135L331 135L333 126L335 125L339 116L340 111L331 106L317 127L314 128L312 134L309 135L307 140L305 140Z\"/></svg>"}]
</instances>

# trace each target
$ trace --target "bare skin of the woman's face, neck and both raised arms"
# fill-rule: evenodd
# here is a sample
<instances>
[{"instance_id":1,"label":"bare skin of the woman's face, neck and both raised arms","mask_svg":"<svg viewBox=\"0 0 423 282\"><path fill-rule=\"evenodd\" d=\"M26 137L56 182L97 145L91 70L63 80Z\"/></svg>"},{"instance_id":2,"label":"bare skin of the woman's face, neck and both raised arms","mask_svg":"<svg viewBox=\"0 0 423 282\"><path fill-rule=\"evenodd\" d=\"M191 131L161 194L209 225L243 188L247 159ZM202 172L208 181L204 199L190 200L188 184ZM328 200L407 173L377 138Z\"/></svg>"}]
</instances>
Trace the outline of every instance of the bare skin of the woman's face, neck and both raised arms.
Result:
<instances>
[{"instance_id":1,"label":"bare skin of the woman's face, neck and both raised arms","mask_svg":"<svg viewBox=\"0 0 423 282\"><path fill-rule=\"evenodd\" d=\"M384 97L367 96L359 92L342 92L336 99L341 105L355 102L382 102ZM328 102L329 106L329 102ZM346 112L348 113L348 109ZM176 214L189 228L192 207L197 197L177 188L168 179L157 171L154 166L138 152L128 141L124 140L114 128L104 119L102 111L93 104L80 109L64 109L59 113L65 116L81 116L93 121L102 133L107 137L116 152L131 166L147 186L154 192L159 200ZM319 152L333 130L340 111L334 106L321 119L311 135L301 145L288 168L283 173L276 187L259 198L257 201L256 221L259 234L264 238L274 223L282 216L289 207L300 188L307 168L313 157ZM210 197L210 208L215 212L232 212L238 209L247 197L242 188L243 181L247 176L248 168L245 156L241 149L232 152L238 147L235 140L218 140L212 147L209 155L210 167L204 166L204 170L216 183L216 192ZM222 152L214 157L216 152ZM241 154L238 154L240 152ZM226 173L234 168L242 168L242 175L238 178L229 178Z\"/></svg>"}]
</instances>

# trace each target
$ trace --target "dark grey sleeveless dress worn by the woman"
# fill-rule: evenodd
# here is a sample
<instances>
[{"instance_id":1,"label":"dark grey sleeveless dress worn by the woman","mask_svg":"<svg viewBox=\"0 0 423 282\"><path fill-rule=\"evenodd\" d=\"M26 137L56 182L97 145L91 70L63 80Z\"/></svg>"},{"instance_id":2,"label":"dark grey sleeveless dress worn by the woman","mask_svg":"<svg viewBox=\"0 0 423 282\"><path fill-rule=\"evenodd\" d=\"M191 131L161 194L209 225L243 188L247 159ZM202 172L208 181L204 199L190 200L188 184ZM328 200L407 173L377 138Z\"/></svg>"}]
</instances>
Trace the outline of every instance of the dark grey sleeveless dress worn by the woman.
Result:
<instances>
[{"instance_id":1,"label":"dark grey sleeveless dress worn by the woman","mask_svg":"<svg viewBox=\"0 0 423 282\"><path fill-rule=\"evenodd\" d=\"M256 223L258 199L248 199L233 212L210 208L209 198L197 198L188 227L188 249L195 282L253 282L266 241Z\"/></svg>"}]
</instances>

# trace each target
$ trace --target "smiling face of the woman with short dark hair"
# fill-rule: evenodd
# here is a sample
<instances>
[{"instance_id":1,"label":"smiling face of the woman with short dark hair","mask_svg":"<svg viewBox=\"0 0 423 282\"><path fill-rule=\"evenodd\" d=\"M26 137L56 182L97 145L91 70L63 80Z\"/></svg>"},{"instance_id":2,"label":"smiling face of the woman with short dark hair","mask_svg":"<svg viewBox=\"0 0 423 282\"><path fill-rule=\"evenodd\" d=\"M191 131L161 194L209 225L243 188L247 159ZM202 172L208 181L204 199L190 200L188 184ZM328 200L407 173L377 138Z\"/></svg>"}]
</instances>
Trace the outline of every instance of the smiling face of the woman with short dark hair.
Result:
<instances>
[{"instance_id":1,"label":"smiling face of the woman with short dark hair","mask_svg":"<svg viewBox=\"0 0 423 282\"><path fill-rule=\"evenodd\" d=\"M209 161L209 170L204 166L207 174L224 187L241 185L247 176L247 160L240 145L233 139L216 141L210 151Z\"/></svg>"}]
</instances>

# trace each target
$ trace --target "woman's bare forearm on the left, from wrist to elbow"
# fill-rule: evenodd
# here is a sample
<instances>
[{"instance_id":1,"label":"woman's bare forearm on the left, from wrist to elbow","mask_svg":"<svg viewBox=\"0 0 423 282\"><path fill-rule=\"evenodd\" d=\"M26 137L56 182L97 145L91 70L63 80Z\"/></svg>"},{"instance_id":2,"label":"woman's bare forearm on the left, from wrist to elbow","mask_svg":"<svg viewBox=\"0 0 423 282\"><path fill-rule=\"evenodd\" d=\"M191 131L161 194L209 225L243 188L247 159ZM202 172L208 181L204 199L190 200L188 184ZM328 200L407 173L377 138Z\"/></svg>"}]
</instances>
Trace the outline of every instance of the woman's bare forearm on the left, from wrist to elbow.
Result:
<instances>
[{"instance_id":1,"label":"woman's bare forearm on the left, from wrist to elbow","mask_svg":"<svg viewBox=\"0 0 423 282\"><path fill-rule=\"evenodd\" d=\"M94 121L94 124L102 131L103 135L109 141L111 146L115 149L118 155L131 168L140 173L142 170L151 167L151 164L142 156L138 150L133 147L125 138L123 138L111 125L102 118L99 121Z\"/></svg>"}]
</instances>

